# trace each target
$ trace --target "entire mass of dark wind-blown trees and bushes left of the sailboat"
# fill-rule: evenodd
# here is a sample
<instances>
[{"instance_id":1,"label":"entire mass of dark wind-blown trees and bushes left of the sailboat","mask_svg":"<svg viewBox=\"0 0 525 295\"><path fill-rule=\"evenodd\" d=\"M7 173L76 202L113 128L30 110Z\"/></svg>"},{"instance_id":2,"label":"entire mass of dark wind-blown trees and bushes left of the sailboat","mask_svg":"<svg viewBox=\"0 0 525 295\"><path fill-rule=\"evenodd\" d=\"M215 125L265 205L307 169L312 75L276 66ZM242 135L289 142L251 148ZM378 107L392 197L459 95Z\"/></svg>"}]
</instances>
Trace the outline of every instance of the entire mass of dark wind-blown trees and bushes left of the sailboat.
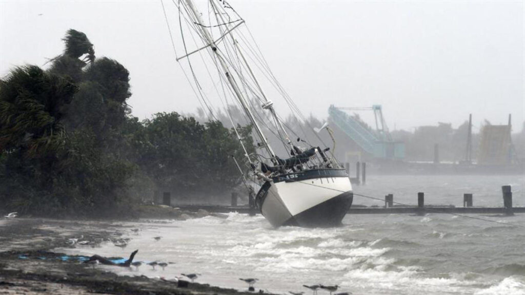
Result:
<instances>
[{"instance_id":1,"label":"entire mass of dark wind-blown trees and bushes left of the sailboat","mask_svg":"<svg viewBox=\"0 0 525 295\"><path fill-rule=\"evenodd\" d=\"M0 203L55 216L130 214L154 189L217 194L239 185L235 132L177 113L129 116L129 72L95 58L68 30L64 54L45 71L17 67L0 80ZM85 56L82 60L82 56ZM253 152L251 128L238 127Z\"/></svg>"}]
</instances>

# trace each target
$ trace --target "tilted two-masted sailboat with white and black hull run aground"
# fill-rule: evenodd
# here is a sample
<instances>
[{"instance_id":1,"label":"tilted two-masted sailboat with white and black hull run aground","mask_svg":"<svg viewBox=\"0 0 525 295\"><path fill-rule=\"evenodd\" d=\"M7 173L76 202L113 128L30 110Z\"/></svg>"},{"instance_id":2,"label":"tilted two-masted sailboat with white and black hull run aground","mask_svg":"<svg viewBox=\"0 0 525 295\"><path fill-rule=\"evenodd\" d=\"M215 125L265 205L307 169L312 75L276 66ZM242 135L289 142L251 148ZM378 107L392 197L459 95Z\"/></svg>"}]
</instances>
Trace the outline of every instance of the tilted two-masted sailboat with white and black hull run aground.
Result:
<instances>
[{"instance_id":1,"label":"tilted two-masted sailboat with white and black hull run aground","mask_svg":"<svg viewBox=\"0 0 525 295\"><path fill-rule=\"evenodd\" d=\"M341 225L341 220L352 205L353 193L348 173L333 155L335 146L330 151L318 135L322 130L327 130L335 144L329 127L324 125L317 130L318 132L313 132L318 138L317 143L321 144L312 144L299 136L297 141L292 141L290 134L297 133L277 114L274 103L256 77L256 69L267 78L269 85L274 86L294 114L302 119L304 116L275 79L266 60L260 55L259 47L253 44L241 45L250 40L248 36L251 36L251 33L248 31L248 34L245 34L241 31L241 28L246 26L245 20L229 3L224 0L209 0L206 5L207 13L199 12L192 0L173 3L177 8L184 45L184 54L175 54L180 63L187 61L186 65L190 68L191 75L186 73L186 77L192 83L197 98L201 103L208 105L209 94L202 90L203 84L196 78L197 67L191 61L192 57L200 56L201 60L208 60L208 65L211 64L214 68L210 71L208 65L205 65L210 77L211 72L216 71L218 78L212 84L218 89L217 96L224 101L232 99L253 127L253 136L258 142L259 151L248 154L240 137L239 142L245 151L245 170L260 186L255 203L261 214L275 227ZM166 16L166 10L164 14ZM170 28L167 16L166 23ZM184 36L183 27L191 32L191 38ZM195 48L190 48L191 41ZM173 45L175 49L175 44ZM256 64L256 67L252 64ZM229 113L228 117L235 128ZM262 128L261 125L266 128ZM275 135L278 145L282 143L285 147L283 152L286 155L279 156L274 151L265 134L269 132ZM299 143L307 146L299 146ZM320 145L324 145L323 148ZM240 166L239 169L245 173Z\"/></svg>"}]
</instances>

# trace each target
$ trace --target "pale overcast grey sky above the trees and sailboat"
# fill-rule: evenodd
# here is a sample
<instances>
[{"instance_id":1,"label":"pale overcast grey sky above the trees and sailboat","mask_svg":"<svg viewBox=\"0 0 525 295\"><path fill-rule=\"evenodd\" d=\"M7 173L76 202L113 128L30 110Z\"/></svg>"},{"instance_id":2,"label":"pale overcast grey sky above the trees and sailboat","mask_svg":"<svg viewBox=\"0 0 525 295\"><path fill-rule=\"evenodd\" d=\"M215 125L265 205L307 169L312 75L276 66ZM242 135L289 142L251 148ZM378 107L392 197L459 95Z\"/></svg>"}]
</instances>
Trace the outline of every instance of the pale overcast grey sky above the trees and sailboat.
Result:
<instances>
[{"instance_id":1,"label":"pale overcast grey sky above the trees and sailboat","mask_svg":"<svg viewBox=\"0 0 525 295\"><path fill-rule=\"evenodd\" d=\"M513 132L525 121L524 1L229 3L303 113L382 104L390 129L405 130L456 128L469 113L475 132L509 113ZM133 115L199 106L174 60L160 0L0 0L0 75L60 54L69 28L130 71Z\"/></svg>"}]
</instances>

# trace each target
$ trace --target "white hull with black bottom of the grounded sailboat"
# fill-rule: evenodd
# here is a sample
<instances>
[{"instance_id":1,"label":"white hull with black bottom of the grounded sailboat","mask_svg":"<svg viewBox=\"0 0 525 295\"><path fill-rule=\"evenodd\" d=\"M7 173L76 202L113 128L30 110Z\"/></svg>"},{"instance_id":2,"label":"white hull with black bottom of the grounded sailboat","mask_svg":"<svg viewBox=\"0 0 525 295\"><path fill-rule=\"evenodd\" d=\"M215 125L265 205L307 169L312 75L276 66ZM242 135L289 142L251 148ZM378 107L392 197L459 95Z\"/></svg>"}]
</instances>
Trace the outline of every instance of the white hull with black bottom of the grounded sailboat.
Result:
<instances>
[{"instance_id":1,"label":"white hull with black bottom of the grounded sailboat","mask_svg":"<svg viewBox=\"0 0 525 295\"><path fill-rule=\"evenodd\" d=\"M339 169L283 175L266 182L257 194L262 215L271 225L339 226L352 205L350 178Z\"/></svg>"}]
</instances>

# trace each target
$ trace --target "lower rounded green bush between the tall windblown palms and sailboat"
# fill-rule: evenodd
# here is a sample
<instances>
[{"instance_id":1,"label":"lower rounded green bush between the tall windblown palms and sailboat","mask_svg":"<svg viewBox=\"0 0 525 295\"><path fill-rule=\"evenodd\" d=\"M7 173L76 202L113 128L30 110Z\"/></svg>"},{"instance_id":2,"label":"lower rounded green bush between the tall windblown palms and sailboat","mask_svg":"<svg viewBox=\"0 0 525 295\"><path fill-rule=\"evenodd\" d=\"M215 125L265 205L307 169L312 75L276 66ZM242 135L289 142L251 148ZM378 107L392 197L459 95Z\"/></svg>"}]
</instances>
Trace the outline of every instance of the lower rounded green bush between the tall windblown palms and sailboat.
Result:
<instances>
[{"instance_id":1,"label":"lower rounded green bush between the tall windblown palms and sailboat","mask_svg":"<svg viewBox=\"0 0 525 295\"><path fill-rule=\"evenodd\" d=\"M204 125L194 118L158 113L144 121L149 144L142 145L137 163L158 187L177 194L218 194L240 184L240 173L230 155L243 157L233 130L218 121ZM250 152L250 127L238 128ZM203 185L205 184L205 185Z\"/></svg>"}]
</instances>

